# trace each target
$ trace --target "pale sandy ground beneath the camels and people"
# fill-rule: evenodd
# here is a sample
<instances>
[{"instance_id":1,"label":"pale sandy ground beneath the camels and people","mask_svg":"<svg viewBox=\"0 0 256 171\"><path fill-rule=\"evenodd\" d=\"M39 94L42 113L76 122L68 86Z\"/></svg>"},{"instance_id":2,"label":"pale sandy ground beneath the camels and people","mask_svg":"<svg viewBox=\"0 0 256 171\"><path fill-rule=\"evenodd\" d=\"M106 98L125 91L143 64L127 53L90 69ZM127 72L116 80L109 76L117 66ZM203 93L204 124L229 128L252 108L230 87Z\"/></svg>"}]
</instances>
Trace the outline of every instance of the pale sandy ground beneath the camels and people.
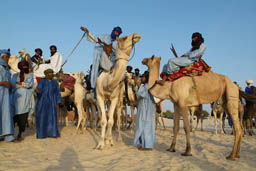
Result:
<instances>
[{"instance_id":1,"label":"pale sandy ground beneath the camels and people","mask_svg":"<svg viewBox=\"0 0 256 171\"><path fill-rule=\"evenodd\" d=\"M204 132L191 133L192 157L183 157L185 134L177 138L176 153L166 152L171 144L172 120L165 120L167 130L156 132L153 151L139 151L132 146L133 132L122 131L123 142L95 150L100 132L87 130L74 134L75 127L60 127L61 138L36 139L35 130L27 129L21 143L0 142L0 170L255 170L256 136L245 136L241 158L226 160L234 136L215 135L213 120L204 121ZM181 121L182 123L182 121ZM226 131L231 129L226 124ZM116 132L114 131L116 138Z\"/></svg>"}]
</instances>

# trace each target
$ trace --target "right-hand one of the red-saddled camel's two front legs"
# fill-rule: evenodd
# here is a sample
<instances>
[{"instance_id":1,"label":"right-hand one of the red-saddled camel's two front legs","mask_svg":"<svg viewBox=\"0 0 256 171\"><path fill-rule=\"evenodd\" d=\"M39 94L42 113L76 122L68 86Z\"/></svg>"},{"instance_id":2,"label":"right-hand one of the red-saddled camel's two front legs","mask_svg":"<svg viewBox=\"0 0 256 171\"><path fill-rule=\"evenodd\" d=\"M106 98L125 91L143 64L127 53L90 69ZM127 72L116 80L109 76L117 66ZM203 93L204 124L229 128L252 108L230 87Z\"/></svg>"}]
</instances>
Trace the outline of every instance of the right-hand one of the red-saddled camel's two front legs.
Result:
<instances>
[{"instance_id":1,"label":"right-hand one of the red-saddled camel's two front legs","mask_svg":"<svg viewBox=\"0 0 256 171\"><path fill-rule=\"evenodd\" d=\"M183 116L183 125L184 125L184 130L186 133L186 141L187 141L186 151L184 153L182 153L181 155L182 156L192 156L191 144L190 144L190 127L189 127L189 118L188 118L189 112L186 107L183 107L181 109L181 113Z\"/></svg>"}]
</instances>

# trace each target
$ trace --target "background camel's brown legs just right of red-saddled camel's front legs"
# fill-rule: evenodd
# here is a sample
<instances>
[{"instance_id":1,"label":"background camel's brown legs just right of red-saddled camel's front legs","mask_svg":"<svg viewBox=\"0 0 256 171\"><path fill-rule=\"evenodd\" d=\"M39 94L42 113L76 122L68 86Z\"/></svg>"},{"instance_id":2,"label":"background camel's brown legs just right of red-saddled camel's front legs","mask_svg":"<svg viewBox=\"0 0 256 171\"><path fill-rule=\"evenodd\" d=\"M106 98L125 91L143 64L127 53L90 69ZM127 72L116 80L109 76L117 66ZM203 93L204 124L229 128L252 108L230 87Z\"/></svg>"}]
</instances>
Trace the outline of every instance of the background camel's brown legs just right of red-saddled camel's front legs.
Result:
<instances>
[{"instance_id":1,"label":"background camel's brown legs just right of red-saddled camel's front legs","mask_svg":"<svg viewBox=\"0 0 256 171\"><path fill-rule=\"evenodd\" d=\"M204 115L203 115L203 106L199 105L199 106L191 106L189 107L189 112L191 114L190 117L190 129L192 132L195 132L198 128L199 125L199 120L201 120L201 131L203 130L203 120L204 120ZM193 120L194 120L194 115L196 115L196 127L193 128Z\"/></svg>"}]
</instances>

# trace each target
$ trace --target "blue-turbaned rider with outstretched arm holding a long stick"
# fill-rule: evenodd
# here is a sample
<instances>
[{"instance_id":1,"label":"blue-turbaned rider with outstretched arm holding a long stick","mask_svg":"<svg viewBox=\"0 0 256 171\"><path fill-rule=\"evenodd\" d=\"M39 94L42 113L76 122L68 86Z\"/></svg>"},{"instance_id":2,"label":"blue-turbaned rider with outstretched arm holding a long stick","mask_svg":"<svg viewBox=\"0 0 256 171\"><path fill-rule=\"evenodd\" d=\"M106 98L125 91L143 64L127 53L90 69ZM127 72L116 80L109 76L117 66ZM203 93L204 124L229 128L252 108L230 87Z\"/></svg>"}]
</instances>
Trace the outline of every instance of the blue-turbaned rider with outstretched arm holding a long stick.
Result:
<instances>
[{"instance_id":1,"label":"blue-turbaned rider with outstretched arm holding a long stick","mask_svg":"<svg viewBox=\"0 0 256 171\"><path fill-rule=\"evenodd\" d=\"M95 89L96 80L100 74L100 70L110 71L110 69L115 64L115 59L116 59L115 47L117 44L116 38L119 37L120 34L122 34L122 29L120 27L115 27L110 35L109 34L94 35L91 32L89 32L88 29L85 27L81 27L81 30L86 32L87 40L95 44L94 54L93 54L93 64L92 64L91 75L90 75L91 86L93 89ZM112 53L110 54L110 56L106 54L106 47L98 43L98 38L102 42L106 43L107 45L112 44Z\"/></svg>"}]
</instances>

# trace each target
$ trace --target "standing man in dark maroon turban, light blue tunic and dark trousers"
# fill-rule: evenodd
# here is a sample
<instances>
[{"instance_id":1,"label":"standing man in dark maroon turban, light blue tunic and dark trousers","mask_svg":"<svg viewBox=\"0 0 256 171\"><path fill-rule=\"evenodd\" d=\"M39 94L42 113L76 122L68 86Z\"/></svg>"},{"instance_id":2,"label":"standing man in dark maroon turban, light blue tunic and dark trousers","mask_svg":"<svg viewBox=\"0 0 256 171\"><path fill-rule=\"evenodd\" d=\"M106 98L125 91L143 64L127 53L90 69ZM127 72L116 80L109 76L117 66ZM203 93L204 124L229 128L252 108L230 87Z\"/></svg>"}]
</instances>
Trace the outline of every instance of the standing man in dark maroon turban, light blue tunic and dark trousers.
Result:
<instances>
[{"instance_id":1,"label":"standing man in dark maroon turban, light blue tunic and dark trousers","mask_svg":"<svg viewBox=\"0 0 256 171\"><path fill-rule=\"evenodd\" d=\"M15 74L13 80L16 87L13 90L14 122L18 123L19 133L17 140L22 140L21 134L25 131L28 114L35 111L35 100L33 95L34 76L29 73L29 63L21 61L18 63L20 72Z\"/></svg>"}]
</instances>

